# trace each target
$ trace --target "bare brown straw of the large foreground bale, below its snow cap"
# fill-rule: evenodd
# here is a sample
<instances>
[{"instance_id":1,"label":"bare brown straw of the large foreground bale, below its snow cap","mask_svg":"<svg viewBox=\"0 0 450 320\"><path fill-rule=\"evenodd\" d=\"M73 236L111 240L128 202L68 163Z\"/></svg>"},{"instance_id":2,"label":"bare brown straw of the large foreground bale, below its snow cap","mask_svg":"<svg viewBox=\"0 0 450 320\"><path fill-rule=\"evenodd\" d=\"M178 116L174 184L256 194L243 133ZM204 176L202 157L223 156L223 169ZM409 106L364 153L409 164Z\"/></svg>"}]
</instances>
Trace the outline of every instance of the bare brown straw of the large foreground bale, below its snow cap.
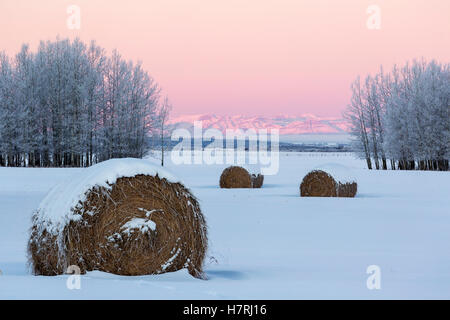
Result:
<instances>
[{"instance_id":1,"label":"bare brown straw of the large foreground bale, below its snow cap","mask_svg":"<svg viewBox=\"0 0 450 320\"><path fill-rule=\"evenodd\" d=\"M74 208L80 218L50 234L33 218L29 257L37 275L82 273L160 274L187 268L204 278L207 228L198 201L180 183L158 175L119 178L95 187ZM38 214L38 213L36 213Z\"/></svg>"}]
</instances>

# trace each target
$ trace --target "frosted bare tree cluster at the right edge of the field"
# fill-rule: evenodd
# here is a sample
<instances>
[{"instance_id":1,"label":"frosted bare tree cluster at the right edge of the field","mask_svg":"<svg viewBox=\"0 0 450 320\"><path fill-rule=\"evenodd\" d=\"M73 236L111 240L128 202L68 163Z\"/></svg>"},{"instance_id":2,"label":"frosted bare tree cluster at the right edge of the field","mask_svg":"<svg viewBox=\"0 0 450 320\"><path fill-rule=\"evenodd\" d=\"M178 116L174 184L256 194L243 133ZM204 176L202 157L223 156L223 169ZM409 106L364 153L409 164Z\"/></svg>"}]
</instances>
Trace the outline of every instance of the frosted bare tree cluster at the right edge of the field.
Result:
<instances>
[{"instance_id":1,"label":"frosted bare tree cluster at the right edge of the field","mask_svg":"<svg viewBox=\"0 0 450 320\"><path fill-rule=\"evenodd\" d=\"M344 117L369 169L446 171L449 109L450 65L421 60L358 77Z\"/></svg>"}]
</instances>

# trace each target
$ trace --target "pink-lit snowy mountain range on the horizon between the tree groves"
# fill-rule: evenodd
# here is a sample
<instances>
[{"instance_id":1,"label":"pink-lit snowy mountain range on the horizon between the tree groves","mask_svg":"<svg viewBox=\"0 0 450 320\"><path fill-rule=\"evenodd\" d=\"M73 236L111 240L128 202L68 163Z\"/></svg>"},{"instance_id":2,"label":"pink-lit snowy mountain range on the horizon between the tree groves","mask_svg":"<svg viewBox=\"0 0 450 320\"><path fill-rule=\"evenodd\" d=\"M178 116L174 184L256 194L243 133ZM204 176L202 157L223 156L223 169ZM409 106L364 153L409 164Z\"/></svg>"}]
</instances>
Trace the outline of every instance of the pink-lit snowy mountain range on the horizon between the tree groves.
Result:
<instances>
[{"instance_id":1,"label":"pink-lit snowy mountain range on the horizon between the tree groves","mask_svg":"<svg viewBox=\"0 0 450 320\"><path fill-rule=\"evenodd\" d=\"M280 135L298 134L345 134L348 124L342 118L318 117L313 114L300 116L278 115L268 116L218 116L215 114L183 115L170 119L169 129L185 128L191 130L194 121L202 121L203 130L219 129L279 129Z\"/></svg>"}]
</instances>

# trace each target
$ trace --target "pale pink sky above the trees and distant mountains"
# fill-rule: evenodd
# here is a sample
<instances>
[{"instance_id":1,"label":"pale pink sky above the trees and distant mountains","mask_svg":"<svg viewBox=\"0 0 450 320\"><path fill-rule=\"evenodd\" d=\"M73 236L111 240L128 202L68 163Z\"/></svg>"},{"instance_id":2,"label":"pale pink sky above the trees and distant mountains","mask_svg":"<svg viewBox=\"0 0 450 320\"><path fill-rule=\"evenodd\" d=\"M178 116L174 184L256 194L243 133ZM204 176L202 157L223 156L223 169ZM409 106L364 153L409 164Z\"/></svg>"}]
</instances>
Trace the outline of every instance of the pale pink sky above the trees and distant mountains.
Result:
<instances>
[{"instance_id":1,"label":"pale pink sky above the trees and distant mountains","mask_svg":"<svg viewBox=\"0 0 450 320\"><path fill-rule=\"evenodd\" d=\"M66 9L81 8L81 29ZM366 9L381 8L369 30ZM142 60L174 114L340 116L358 75L449 62L448 0L0 0L0 50L80 37Z\"/></svg>"}]
</instances>

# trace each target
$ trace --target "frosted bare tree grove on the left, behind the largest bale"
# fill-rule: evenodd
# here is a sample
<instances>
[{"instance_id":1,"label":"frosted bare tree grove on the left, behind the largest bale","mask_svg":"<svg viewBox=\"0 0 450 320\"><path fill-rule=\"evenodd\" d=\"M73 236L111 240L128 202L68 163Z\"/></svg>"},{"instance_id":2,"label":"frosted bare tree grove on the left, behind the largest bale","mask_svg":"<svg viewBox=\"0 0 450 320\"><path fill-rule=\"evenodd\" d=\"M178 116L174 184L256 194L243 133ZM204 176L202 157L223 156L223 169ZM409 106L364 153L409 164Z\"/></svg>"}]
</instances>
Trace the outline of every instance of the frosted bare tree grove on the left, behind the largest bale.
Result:
<instances>
[{"instance_id":1,"label":"frosted bare tree grove on the left, behind the largest bale","mask_svg":"<svg viewBox=\"0 0 450 320\"><path fill-rule=\"evenodd\" d=\"M0 166L82 167L142 157L159 88L95 42L57 39L0 53Z\"/></svg>"}]
</instances>

